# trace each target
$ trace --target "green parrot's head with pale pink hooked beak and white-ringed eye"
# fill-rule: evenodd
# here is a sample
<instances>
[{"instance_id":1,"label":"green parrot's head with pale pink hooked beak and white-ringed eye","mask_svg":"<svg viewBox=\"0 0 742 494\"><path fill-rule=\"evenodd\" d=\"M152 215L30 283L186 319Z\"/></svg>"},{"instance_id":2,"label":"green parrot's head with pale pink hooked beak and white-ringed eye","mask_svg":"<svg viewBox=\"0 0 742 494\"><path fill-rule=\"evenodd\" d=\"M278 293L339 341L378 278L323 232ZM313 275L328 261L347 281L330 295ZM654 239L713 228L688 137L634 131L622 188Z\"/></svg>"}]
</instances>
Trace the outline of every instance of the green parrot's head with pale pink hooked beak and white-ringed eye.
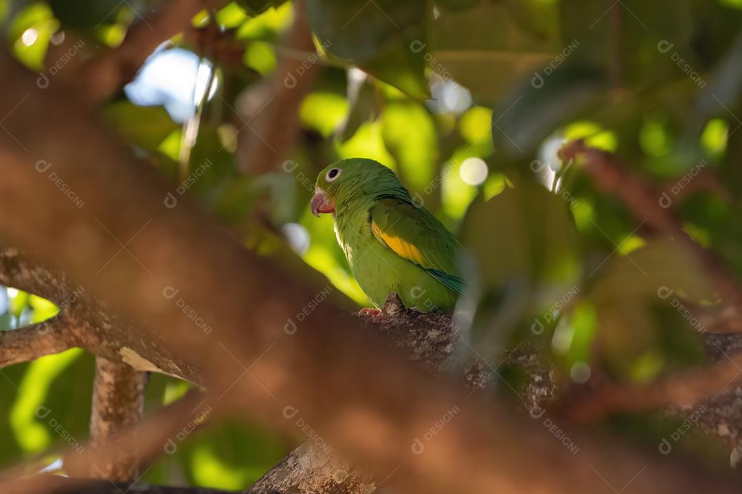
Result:
<instances>
[{"instance_id":1,"label":"green parrot's head with pale pink hooked beak and white-ringed eye","mask_svg":"<svg viewBox=\"0 0 742 494\"><path fill-rule=\"evenodd\" d=\"M410 196L392 170L367 158L347 158L335 161L317 177L312 213L335 213L335 206L354 200L375 198L396 192Z\"/></svg>"}]
</instances>

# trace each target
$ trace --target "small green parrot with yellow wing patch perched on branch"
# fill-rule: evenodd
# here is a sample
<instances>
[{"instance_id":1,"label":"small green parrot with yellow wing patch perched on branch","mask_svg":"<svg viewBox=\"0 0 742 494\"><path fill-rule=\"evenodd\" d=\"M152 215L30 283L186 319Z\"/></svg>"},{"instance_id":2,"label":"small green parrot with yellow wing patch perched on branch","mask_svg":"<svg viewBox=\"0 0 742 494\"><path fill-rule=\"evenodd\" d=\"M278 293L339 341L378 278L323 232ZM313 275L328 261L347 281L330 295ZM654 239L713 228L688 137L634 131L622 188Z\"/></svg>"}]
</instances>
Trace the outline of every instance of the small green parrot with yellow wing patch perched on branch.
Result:
<instances>
[{"instance_id":1,"label":"small green parrot with yellow wing patch perched on branch","mask_svg":"<svg viewBox=\"0 0 742 494\"><path fill-rule=\"evenodd\" d=\"M353 276L378 316L391 292L405 307L453 312L464 282L456 267L461 244L378 161L349 158L321 171L312 213L333 213L335 235Z\"/></svg>"}]
</instances>

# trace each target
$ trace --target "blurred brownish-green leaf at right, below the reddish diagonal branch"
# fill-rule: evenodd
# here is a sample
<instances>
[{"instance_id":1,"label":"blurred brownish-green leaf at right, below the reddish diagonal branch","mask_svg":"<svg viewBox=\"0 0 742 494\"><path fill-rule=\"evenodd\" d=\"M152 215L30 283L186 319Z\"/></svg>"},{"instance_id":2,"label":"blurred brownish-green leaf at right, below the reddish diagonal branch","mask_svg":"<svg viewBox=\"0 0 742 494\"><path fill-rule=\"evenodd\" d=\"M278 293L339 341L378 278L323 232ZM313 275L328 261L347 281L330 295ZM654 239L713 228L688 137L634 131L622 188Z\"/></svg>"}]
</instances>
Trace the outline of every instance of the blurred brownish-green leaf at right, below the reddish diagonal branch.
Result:
<instances>
[{"instance_id":1,"label":"blurred brownish-green leaf at right, below the reddish diagonal branch","mask_svg":"<svg viewBox=\"0 0 742 494\"><path fill-rule=\"evenodd\" d=\"M588 293L600 330L596 358L634 381L699 361L696 333L704 328L690 308L715 301L709 278L677 242L652 241L626 254L624 248L594 273Z\"/></svg>"}]
</instances>

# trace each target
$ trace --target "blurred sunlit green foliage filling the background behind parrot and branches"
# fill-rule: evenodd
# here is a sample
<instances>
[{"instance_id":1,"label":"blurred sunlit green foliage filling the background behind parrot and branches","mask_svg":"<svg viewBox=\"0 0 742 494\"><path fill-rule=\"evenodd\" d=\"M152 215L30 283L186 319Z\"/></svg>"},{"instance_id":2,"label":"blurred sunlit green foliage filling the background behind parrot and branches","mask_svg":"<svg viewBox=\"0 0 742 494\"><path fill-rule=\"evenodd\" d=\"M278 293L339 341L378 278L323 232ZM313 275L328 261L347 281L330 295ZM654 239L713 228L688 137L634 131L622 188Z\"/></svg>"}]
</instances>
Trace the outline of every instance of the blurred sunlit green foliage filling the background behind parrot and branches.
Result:
<instances>
[{"instance_id":1,"label":"blurred sunlit green foliage filling the background behind parrot and branches","mask_svg":"<svg viewBox=\"0 0 742 494\"><path fill-rule=\"evenodd\" d=\"M42 71L56 63L45 61L50 43L86 40L85 56L94 56L116 47L150 3L0 0L0 22L18 59ZM577 383L585 370L587 377L645 382L703 359L703 328L674 300L714 306L709 281L674 242L646 241L652 233L641 219L597 190L580 163L559 161L557 150L584 138L617 153L671 194L686 232L741 276L741 1L306 6L318 54L292 53L283 44L295 15L291 2L234 1L193 22L200 29L219 24L220 41L242 53L220 59L206 47L194 55L216 67L216 94L202 99L194 91L186 101L202 112L174 121L163 107L137 106L119 93L102 105L102 121L174 187L188 183L183 193L246 247L291 266L320 290L327 281L307 265L318 270L358 305L367 300L335 241L332 218L317 219L307 206L330 161L364 156L387 164L469 247L462 262L471 290L462 307L473 324L471 344L493 364L506 343L528 338L548 341L558 372ZM180 39L173 44L195 49ZM246 176L237 166L236 137L238 130L240 138L251 134L237 110L255 87L288 76L277 73L281 56L318 64L319 76L298 111L301 136L289 159ZM263 104L267 97L257 107ZM658 295L661 287L674 296ZM0 330L56 310L7 293ZM48 418L34 414L39 406L84 440L90 356L73 350L2 374L0 382L13 385L0 386L9 413L0 421L0 463L62 444ZM148 406L183 390L172 378L153 376ZM290 446L269 431L227 424L188 438L145 480L242 489Z\"/></svg>"}]
</instances>

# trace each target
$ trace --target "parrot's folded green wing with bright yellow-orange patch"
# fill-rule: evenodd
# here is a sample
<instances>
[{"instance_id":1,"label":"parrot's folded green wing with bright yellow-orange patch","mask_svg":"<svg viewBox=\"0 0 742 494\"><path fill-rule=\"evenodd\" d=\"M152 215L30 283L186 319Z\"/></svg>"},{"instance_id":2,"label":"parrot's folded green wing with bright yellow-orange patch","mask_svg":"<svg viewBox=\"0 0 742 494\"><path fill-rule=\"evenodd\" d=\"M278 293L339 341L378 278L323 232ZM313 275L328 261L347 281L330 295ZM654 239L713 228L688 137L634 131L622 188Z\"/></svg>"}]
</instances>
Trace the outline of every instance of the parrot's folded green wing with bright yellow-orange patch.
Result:
<instances>
[{"instance_id":1,"label":"parrot's folded green wing with bright yellow-orange patch","mask_svg":"<svg viewBox=\"0 0 742 494\"><path fill-rule=\"evenodd\" d=\"M462 294L464 281L456 269L461 244L438 218L423 207L398 198L377 201L370 216L371 230L378 241Z\"/></svg>"}]
</instances>

